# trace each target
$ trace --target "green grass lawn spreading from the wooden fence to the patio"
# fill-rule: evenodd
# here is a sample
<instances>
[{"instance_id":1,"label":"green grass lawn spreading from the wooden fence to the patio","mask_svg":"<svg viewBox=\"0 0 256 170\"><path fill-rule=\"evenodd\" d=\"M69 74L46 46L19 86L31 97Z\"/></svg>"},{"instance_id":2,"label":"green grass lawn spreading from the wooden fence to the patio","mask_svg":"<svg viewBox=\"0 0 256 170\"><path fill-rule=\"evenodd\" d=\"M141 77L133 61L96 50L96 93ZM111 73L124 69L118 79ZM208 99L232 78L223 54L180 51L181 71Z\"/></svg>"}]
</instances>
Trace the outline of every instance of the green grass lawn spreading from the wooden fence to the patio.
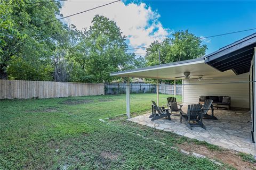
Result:
<instances>
[{"instance_id":1,"label":"green grass lawn spreading from the wooden fence to the patio","mask_svg":"<svg viewBox=\"0 0 256 170\"><path fill-rule=\"evenodd\" d=\"M159 96L161 104L166 97ZM155 99L155 94L131 94L131 112L150 110ZM99 121L124 114L125 95L0 102L0 169L221 168L171 148L190 141L185 137L125 121L125 116Z\"/></svg>"}]
</instances>

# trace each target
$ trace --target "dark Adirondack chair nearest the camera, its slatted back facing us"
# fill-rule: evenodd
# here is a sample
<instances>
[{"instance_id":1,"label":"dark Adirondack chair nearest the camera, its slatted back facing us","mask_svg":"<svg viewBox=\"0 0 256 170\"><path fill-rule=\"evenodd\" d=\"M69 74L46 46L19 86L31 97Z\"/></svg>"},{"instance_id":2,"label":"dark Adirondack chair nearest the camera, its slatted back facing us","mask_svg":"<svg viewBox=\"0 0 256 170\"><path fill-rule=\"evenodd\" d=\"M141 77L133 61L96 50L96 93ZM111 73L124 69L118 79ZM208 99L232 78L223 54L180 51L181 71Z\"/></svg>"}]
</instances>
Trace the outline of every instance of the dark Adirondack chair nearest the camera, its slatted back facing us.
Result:
<instances>
[{"instance_id":1,"label":"dark Adirondack chair nearest the camera, its slatted back facing us","mask_svg":"<svg viewBox=\"0 0 256 170\"><path fill-rule=\"evenodd\" d=\"M201 104L188 105L187 114L183 111L180 111L180 122L182 122L182 120L190 129L192 129L192 126L199 126L203 129L206 129L203 124Z\"/></svg>"}]
</instances>

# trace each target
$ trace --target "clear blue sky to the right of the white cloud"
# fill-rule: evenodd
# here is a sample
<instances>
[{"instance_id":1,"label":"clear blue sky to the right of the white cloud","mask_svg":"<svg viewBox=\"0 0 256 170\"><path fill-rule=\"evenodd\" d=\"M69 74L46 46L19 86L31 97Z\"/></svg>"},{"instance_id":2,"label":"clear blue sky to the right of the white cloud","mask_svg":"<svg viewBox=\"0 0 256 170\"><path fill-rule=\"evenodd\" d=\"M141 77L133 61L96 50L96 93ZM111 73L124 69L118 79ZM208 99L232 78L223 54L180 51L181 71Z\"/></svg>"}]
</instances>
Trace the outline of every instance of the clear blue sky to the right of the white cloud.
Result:
<instances>
[{"instance_id":1,"label":"clear blue sky to the right of the white cloud","mask_svg":"<svg viewBox=\"0 0 256 170\"><path fill-rule=\"evenodd\" d=\"M256 28L256 1L142 1L157 10L164 28L186 30L196 36L212 36ZM256 30L212 37L204 44L209 54ZM207 40L209 41L209 39Z\"/></svg>"}]
</instances>

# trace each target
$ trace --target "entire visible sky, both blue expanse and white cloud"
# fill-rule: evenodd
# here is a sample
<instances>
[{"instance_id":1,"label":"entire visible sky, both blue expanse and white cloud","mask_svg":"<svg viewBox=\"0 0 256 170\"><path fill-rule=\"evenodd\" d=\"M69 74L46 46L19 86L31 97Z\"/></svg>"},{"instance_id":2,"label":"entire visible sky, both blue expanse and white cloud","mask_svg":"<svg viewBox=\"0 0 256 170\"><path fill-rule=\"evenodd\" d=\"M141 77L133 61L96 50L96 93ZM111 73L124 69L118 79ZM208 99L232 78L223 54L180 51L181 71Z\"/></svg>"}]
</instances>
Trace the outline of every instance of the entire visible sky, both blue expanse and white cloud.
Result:
<instances>
[{"instance_id":1,"label":"entire visible sky, both blue expanse and white cloud","mask_svg":"<svg viewBox=\"0 0 256 170\"><path fill-rule=\"evenodd\" d=\"M63 1L63 16L88 10L114 0ZM154 40L162 41L172 31L186 30L198 37L256 28L256 1L127 1L122 0L93 11L65 19L80 30L89 28L95 15L103 15L116 22L127 36L129 48L149 46ZM212 37L203 40L206 54L251 35L253 31ZM145 49L129 50L145 55Z\"/></svg>"}]
</instances>

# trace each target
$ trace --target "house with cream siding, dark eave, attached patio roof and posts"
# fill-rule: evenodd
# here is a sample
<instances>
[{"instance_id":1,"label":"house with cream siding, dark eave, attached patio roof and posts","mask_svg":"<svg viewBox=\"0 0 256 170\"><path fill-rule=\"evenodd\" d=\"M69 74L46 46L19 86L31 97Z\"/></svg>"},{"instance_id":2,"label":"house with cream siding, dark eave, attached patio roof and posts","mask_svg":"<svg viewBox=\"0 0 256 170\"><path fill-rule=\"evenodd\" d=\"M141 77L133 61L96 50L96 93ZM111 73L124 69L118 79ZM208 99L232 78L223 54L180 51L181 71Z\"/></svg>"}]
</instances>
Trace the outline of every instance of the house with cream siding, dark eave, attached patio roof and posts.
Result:
<instances>
[{"instance_id":1,"label":"house with cream siding, dark eave, attached patio roof and posts","mask_svg":"<svg viewBox=\"0 0 256 170\"><path fill-rule=\"evenodd\" d=\"M256 137L256 33L202 58L111 73L111 76L179 80L183 103L198 103L201 95L230 96L231 108L251 111L252 142ZM201 80L201 81L200 81ZM129 81L127 85L129 85ZM129 86L126 114L130 117ZM158 102L158 90L157 90Z\"/></svg>"}]
</instances>

